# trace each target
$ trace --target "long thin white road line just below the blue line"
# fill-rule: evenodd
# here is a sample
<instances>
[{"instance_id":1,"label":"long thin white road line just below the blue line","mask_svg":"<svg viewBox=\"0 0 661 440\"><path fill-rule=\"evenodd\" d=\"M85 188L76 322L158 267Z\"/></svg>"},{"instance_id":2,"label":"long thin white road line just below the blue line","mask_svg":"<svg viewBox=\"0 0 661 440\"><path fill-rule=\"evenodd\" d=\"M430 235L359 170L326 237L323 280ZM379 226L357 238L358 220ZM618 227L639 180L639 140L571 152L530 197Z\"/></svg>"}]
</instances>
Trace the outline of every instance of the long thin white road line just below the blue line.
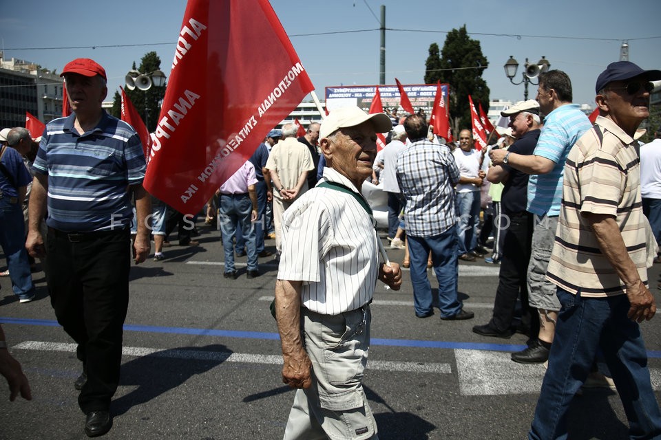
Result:
<instances>
[{"instance_id":1,"label":"long thin white road line just below the blue line","mask_svg":"<svg viewBox=\"0 0 661 440\"><path fill-rule=\"evenodd\" d=\"M25 341L14 345L14 349L38 350L38 351L65 351L76 352L76 344L63 342L40 342ZM269 364L281 365L281 355L253 355L248 353L231 353L229 351L202 351L202 350L180 350L180 349L152 349L147 347L123 347L122 354L125 356L156 356L160 358L212 360L216 362L240 362L244 364ZM436 373L450 374L450 364L437 364L432 362L392 362L370 360L368 369L381 371L403 371L407 373Z\"/></svg>"}]
</instances>

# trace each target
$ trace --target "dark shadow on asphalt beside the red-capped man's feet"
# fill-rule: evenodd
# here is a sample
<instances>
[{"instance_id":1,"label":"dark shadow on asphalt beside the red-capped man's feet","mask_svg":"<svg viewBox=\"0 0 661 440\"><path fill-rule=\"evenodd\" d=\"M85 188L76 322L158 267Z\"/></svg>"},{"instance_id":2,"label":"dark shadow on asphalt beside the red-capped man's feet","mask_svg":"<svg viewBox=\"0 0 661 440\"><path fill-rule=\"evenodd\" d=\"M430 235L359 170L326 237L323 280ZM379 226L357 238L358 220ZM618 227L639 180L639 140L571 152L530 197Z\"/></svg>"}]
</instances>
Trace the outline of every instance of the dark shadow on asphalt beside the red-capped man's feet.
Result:
<instances>
[{"instance_id":1,"label":"dark shadow on asphalt beside the red-capped man's feet","mask_svg":"<svg viewBox=\"0 0 661 440\"><path fill-rule=\"evenodd\" d=\"M122 365L120 386L138 386L112 402L113 415L122 415L133 406L177 388L193 375L206 373L232 354L222 344L180 347L140 356Z\"/></svg>"}]
</instances>

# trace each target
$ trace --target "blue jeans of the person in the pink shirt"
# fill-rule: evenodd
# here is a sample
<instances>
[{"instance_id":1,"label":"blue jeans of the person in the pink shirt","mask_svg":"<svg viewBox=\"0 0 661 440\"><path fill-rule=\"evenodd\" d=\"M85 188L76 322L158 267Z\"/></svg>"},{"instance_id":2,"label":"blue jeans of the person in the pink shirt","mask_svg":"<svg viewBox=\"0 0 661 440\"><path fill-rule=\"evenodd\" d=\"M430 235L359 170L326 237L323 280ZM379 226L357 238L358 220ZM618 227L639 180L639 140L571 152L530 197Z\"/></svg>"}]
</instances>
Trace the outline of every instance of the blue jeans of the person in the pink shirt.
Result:
<instances>
[{"instance_id":1,"label":"blue jeans of the person in the pink shirt","mask_svg":"<svg viewBox=\"0 0 661 440\"><path fill-rule=\"evenodd\" d=\"M255 228L250 221L253 205L248 195L220 195L220 232L222 248L225 252L225 272L234 270L234 245L232 243L237 226L246 243L248 270L257 270L257 252L255 250Z\"/></svg>"}]
</instances>

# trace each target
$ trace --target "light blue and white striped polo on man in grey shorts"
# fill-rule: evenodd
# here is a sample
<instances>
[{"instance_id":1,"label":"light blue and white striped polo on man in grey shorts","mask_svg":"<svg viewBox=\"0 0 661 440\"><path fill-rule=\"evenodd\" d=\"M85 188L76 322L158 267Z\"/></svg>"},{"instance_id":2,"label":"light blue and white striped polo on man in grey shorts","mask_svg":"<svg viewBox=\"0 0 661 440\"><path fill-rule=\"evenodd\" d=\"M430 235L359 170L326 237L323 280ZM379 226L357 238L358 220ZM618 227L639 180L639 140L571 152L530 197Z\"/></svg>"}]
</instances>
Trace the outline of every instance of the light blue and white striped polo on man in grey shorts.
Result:
<instances>
[{"instance_id":1,"label":"light blue and white striped polo on man in grey shorts","mask_svg":"<svg viewBox=\"0 0 661 440\"><path fill-rule=\"evenodd\" d=\"M556 163L551 173L531 175L528 179L528 212L549 217L560 215L563 199L563 169L571 147L591 129L589 119L578 104L561 105L547 115L534 155Z\"/></svg>"}]
</instances>

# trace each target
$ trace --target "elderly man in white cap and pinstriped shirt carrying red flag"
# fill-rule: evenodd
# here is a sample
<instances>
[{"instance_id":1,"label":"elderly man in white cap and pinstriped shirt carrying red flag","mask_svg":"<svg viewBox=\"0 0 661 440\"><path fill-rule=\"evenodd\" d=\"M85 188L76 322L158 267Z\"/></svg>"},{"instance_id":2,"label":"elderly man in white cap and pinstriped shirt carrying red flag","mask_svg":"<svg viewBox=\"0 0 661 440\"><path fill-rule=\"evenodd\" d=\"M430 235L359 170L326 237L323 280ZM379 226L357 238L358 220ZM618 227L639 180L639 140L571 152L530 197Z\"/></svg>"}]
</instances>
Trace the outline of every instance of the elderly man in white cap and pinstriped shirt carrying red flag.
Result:
<instances>
[{"instance_id":1,"label":"elderly man in white cap and pinstriped shirt carrying red flag","mask_svg":"<svg viewBox=\"0 0 661 440\"><path fill-rule=\"evenodd\" d=\"M377 278L399 289L401 270L379 263L379 238L360 190L372 174L376 133L390 127L384 113L331 111L319 131L324 176L284 213L275 312L282 381L298 388L284 439L377 438L362 387L370 302Z\"/></svg>"}]
</instances>

